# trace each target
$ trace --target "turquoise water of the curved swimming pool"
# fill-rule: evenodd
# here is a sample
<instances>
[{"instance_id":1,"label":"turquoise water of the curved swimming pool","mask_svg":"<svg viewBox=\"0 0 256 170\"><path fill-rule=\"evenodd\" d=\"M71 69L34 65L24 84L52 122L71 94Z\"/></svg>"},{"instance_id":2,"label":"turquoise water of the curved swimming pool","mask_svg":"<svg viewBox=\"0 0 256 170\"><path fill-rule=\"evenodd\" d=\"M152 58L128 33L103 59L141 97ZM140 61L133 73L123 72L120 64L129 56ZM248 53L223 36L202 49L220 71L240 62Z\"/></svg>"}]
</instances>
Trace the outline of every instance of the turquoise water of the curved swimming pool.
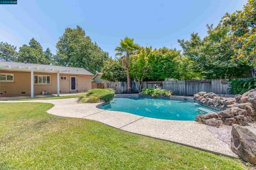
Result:
<instances>
[{"instance_id":1,"label":"turquoise water of the curved swimming pool","mask_svg":"<svg viewBox=\"0 0 256 170\"><path fill-rule=\"evenodd\" d=\"M193 121L198 114L216 112L213 109L189 101L159 98L114 98L109 104L99 108L180 121Z\"/></svg>"}]
</instances>

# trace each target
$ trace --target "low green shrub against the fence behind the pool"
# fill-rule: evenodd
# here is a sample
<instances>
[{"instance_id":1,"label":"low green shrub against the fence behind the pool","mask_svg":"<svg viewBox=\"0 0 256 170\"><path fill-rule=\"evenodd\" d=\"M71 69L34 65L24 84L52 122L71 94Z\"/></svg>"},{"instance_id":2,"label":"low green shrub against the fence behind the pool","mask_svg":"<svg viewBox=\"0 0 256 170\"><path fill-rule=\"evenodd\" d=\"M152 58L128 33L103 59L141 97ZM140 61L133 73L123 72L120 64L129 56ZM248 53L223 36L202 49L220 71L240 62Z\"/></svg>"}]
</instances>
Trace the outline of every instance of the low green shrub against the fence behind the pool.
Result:
<instances>
[{"instance_id":1,"label":"low green shrub against the fence behind the pool","mask_svg":"<svg viewBox=\"0 0 256 170\"><path fill-rule=\"evenodd\" d=\"M161 89L157 86L155 89L153 87L148 89L142 89L141 94L152 97L168 97L173 95L173 92L166 89Z\"/></svg>"}]
</instances>

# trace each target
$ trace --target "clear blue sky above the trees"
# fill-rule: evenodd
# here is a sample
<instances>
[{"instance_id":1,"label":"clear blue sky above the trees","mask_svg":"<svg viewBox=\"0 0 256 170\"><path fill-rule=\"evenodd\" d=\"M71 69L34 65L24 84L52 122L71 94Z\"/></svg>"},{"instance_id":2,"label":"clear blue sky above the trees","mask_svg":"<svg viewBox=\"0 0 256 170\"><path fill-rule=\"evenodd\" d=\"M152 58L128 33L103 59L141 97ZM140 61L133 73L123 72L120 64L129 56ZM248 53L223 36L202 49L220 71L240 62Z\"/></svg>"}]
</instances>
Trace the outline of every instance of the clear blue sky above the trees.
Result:
<instances>
[{"instance_id":1,"label":"clear blue sky above the trees","mask_svg":"<svg viewBox=\"0 0 256 170\"><path fill-rule=\"evenodd\" d=\"M246 0L180 1L66 1L18 0L18 5L0 5L0 41L18 48L34 37L55 54L65 28L80 25L103 50L114 48L125 36L142 46L178 48L178 39L198 32L206 24L218 24L226 12L241 10Z\"/></svg>"}]
</instances>

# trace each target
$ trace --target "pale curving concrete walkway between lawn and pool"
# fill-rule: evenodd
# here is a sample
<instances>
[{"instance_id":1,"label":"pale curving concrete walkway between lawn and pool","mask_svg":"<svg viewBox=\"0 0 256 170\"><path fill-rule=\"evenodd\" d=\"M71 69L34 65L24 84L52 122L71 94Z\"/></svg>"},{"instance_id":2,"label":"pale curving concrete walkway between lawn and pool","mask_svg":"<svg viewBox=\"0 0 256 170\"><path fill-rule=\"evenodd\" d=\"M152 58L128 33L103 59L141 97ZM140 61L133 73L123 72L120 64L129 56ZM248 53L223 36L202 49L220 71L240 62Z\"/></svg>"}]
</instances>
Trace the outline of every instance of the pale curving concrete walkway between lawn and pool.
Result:
<instances>
[{"instance_id":1,"label":"pale curving concrete walkway between lawn and pool","mask_svg":"<svg viewBox=\"0 0 256 170\"><path fill-rule=\"evenodd\" d=\"M230 149L230 126L215 128L195 121L161 120L124 112L105 111L97 108L98 104L78 104L76 98L1 102L52 103L54 107L47 113L53 115L86 118L127 132L176 142L215 154L236 157Z\"/></svg>"}]
</instances>

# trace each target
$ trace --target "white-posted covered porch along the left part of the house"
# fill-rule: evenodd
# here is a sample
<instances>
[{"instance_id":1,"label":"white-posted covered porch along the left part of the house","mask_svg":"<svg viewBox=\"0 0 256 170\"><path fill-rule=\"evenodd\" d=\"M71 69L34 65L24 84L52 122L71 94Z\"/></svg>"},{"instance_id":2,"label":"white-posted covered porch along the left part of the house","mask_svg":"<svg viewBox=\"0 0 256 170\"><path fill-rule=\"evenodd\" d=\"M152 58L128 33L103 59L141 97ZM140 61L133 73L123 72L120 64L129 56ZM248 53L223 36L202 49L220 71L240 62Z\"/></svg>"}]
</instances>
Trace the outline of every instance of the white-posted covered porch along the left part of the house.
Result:
<instances>
[{"instance_id":1,"label":"white-posted covered porch along the left part of the house","mask_svg":"<svg viewBox=\"0 0 256 170\"><path fill-rule=\"evenodd\" d=\"M60 73L62 72L67 72L67 70L0 65L0 97L34 98L35 95L39 97L39 93L45 89L50 89L54 92L51 94L60 96ZM28 90L29 88L30 90Z\"/></svg>"}]
</instances>

